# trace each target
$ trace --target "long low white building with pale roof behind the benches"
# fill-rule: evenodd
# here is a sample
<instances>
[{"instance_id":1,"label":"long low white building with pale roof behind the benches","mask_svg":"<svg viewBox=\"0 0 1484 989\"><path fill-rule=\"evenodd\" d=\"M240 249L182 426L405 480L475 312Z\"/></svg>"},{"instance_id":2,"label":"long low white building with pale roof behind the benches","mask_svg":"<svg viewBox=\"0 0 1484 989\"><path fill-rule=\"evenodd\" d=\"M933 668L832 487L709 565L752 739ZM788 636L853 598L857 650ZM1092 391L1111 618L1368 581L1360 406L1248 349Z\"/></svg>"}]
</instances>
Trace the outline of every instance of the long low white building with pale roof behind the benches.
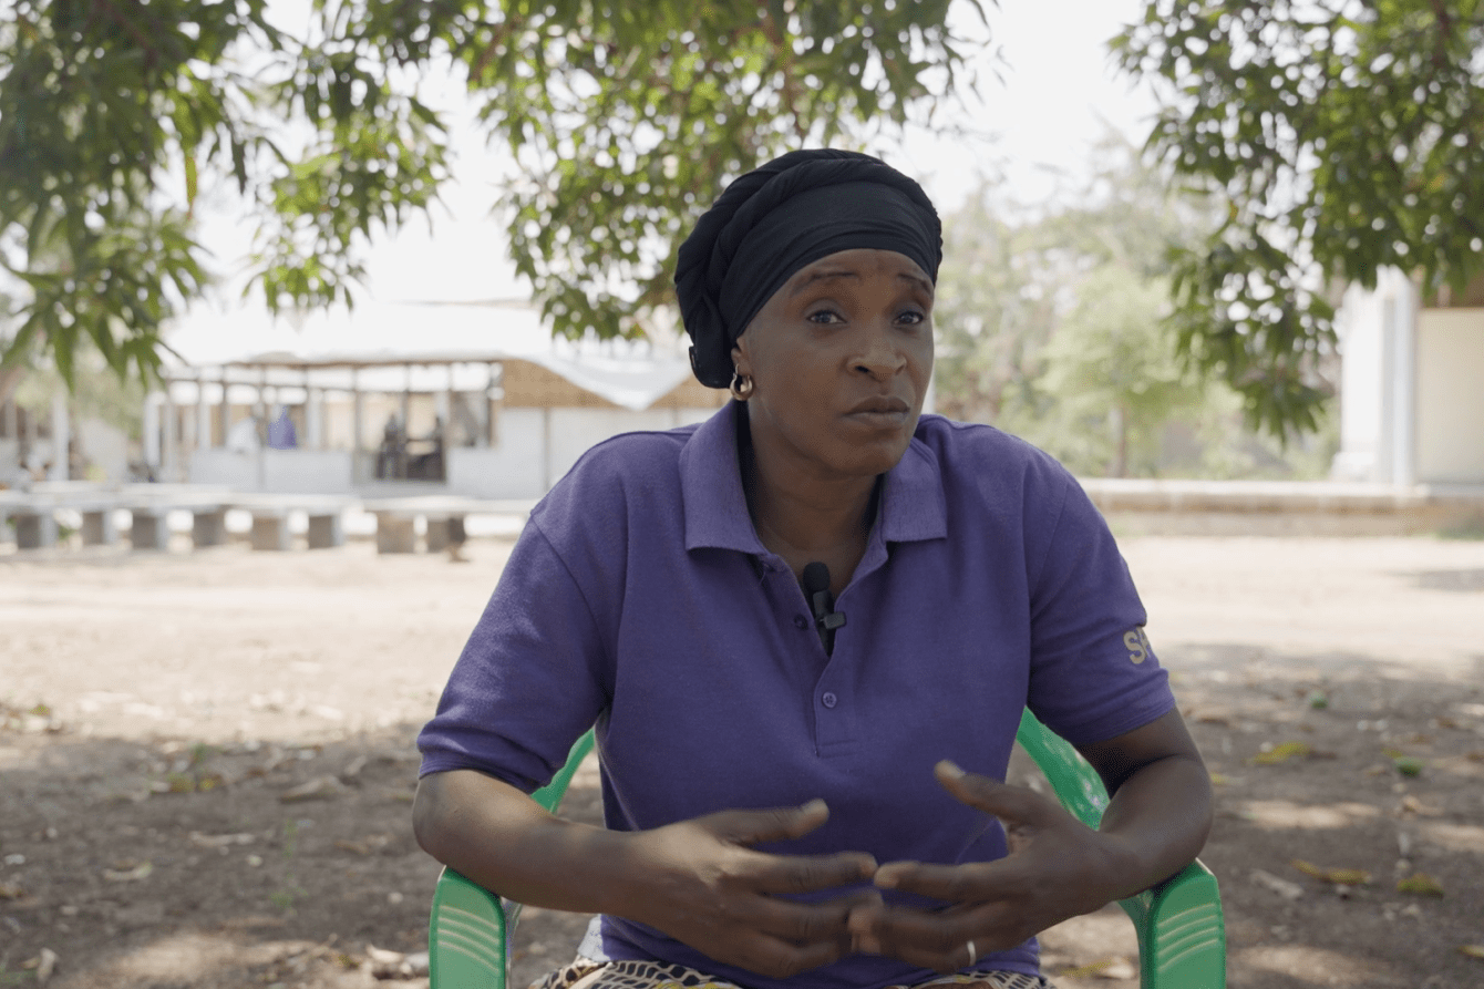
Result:
<instances>
[{"instance_id":1,"label":"long low white building with pale roof behind the benches","mask_svg":"<svg viewBox=\"0 0 1484 989\"><path fill-rule=\"evenodd\" d=\"M159 480L530 499L592 444L697 422L726 399L695 380L680 340L554 340L525 304L370 304L297 328L251 319L193 319L171 337L183 361L145 405ZM282 413L295 445L269 448L266 420Z\"/></svg>"}]
</instances>

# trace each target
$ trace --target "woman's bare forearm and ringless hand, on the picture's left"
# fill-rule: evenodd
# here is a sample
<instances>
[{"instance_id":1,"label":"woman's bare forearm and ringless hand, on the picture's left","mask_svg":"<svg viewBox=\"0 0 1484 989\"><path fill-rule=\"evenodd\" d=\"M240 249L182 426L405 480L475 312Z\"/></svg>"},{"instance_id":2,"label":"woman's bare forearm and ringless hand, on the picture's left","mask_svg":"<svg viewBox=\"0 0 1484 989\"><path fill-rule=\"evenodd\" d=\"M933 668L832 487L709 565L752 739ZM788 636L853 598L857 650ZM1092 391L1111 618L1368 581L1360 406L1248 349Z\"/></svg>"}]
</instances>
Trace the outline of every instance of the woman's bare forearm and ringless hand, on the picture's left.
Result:
<instances>
[{"instance_id":1,"label":"woman's bare forearm and ringless hand, on the picture's left","mask_svg":"<svg viewBox=\"0 0 1484 989\"><path fill-rule=\"evenodd\" d=\"M880 904L867 887L831 900L807 894L870 884L864 852L775 855L758 842L801 838L830 817L824 800L721 811L647 832L564 821L508 783L472 769L417 786L413 827L438 861L516 903L611 913L763 976L784 979L850 953L847 919Z\"/></svg>"}]
</instances>

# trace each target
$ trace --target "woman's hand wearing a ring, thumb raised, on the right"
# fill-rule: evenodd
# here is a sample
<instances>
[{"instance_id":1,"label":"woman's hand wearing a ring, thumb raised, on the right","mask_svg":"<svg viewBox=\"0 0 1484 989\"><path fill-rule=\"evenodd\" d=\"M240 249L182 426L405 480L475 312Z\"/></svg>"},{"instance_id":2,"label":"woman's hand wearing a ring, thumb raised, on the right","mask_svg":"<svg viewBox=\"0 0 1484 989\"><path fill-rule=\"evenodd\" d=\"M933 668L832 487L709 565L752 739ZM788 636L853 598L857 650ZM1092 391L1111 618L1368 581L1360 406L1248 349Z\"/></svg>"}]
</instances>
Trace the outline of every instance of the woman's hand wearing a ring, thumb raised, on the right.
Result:
<instances>
[{"instance_id":1,"label":"woman's hand wearing a ring, thumb raised, on the right","mask_svg":"<svg viewBox=\"0 0 1484 989\"><path fill-rule=\"evenodd\" d=\"M938 763L935 774L957 800L1000 818L1009 855L960 866L893 861L879 867L877 887L948 906L856 909L850 933L859 952L944 973L968 968L990 952L1103 907L1137 872L1119 838L1089 829L1052 799L948 762Z\"/></svg>"}]
</instances>

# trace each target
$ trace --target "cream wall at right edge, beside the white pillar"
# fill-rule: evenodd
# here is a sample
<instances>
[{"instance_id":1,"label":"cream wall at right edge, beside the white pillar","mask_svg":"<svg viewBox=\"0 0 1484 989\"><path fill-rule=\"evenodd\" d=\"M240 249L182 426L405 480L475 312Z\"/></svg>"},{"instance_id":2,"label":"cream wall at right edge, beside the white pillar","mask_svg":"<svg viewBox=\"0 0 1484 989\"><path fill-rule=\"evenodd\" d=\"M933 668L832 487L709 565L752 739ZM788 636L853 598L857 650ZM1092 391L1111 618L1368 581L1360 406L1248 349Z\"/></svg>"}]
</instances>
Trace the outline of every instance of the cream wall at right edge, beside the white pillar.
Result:
<instances>
[{"instance_id":1,"label":"cream wall at right edge, beside the white pillar","mask_svg":"<svg viewBox=\"0 0 1484 989\"><path fill-rule=\"evenodd\" d=\"M1417 480L1484 484L1484 309L1417 319Z\"/></svg>"}]
</instances>

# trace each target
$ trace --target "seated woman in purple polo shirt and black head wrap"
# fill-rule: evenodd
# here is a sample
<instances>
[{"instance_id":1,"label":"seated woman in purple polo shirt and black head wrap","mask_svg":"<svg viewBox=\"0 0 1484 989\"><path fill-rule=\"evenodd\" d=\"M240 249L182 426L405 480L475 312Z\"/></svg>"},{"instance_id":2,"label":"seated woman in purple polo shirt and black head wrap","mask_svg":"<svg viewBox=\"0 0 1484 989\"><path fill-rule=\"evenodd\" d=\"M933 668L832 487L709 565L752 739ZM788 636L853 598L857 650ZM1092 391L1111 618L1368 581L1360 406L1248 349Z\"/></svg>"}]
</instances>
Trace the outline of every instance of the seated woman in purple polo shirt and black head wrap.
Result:
<instances>
[{"instance_id":1,"label":"seated woman in purple polo shirt and black head wrap","mask_svg":"<svg viewBox=\"0 0 1484 989\"><path fill-rule=\"evenodd\" d=\"M877 159L743 175L677 269L696 374L736 401L600 444L531 514L414 815L482 885L603 915L552 985L1037 986L1037 931L1205 841L1097 511L1024 443L920 417L939 258ZM1002 783L1027 704L1107 781L1101 830ZM607 829L527 797L594 723Z\"/></svg>"}]
</instances>

